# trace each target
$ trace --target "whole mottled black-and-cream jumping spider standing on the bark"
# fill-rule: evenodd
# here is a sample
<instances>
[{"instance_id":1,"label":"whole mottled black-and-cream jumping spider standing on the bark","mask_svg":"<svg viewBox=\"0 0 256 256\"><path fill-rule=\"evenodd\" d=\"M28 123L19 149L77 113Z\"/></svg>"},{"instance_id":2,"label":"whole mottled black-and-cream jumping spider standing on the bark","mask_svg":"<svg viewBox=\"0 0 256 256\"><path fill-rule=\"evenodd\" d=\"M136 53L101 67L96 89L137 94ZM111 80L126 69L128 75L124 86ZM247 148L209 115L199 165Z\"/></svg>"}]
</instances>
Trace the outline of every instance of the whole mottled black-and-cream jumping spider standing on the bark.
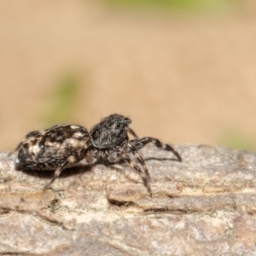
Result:
<instances>
[{"instance_id":1,"label":"whole mottled black-and-cream jumping spider standing on the bark","mask_svg":"<svg viewBox=\"0 0 256 256\"><path fill-rule=\"evenodd\" d=\"M154 143L158 148L171 151L178 161L182 161L182 158L169 144L161 143L156 138L139 139L129 127L130 124L131 119L114 113L93 126L90 132L81 125L55 125L46 130L29 132L10 154L18 152L15 161L18 170L55 170L44 189L49 188L63 169L76 165L80 160L85 159L88 164L98 160L108 160L110 163L125 160L142 177L152 196L148 167L137 151L148 143ZM129 140L128 132L135 139ZM134 155L144 172L129 154Z\"/></svg>"}]
</instances>

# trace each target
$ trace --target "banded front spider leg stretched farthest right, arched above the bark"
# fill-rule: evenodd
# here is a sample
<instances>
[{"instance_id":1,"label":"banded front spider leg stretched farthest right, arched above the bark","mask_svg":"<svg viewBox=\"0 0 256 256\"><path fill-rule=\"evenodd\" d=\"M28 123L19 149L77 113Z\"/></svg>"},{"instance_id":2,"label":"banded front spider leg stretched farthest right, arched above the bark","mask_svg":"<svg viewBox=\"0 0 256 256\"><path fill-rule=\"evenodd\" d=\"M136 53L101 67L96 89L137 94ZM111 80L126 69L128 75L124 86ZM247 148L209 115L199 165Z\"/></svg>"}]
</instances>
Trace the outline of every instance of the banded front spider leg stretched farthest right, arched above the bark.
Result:
<instances>
[{"instance_id":1,"label":"banded front spider leg stretched farthest right, arched above the bark","mask_svg":"<svg viewBox=\"0 0 256 256\"><path fill-rule=\"evenodd\" d=\"M159 139L156 139L154 137L143 137L139 140L131 140L129 143L131 143L131 145L133 146L133 148L135 148L135 150L143 148L148 143L154 143L154 145L157 148L161 148L166 151L171 151L173 154L176 155L177 160L179 162L182 161L182 157L177 153L177 151L174 148L172 148L172 146L166 143L161 143Z\"/></svg>"}]
</instances>

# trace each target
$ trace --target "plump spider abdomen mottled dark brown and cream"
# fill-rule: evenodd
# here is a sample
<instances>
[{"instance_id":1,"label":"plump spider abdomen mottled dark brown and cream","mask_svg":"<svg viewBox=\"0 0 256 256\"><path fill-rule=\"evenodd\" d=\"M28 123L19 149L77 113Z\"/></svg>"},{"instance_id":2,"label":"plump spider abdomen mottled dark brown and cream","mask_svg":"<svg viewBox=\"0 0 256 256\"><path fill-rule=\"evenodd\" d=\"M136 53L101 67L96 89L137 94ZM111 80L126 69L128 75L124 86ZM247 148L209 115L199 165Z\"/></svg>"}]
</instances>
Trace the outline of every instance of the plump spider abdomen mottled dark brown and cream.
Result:
<instances>
[{"instance_id":1,"label":"plump spider abdomen mottled dark brown and cream","mask_svg":"<svg viewBox=\"0 0 256 256\"><path fill-rule=\"evenodd\" d=\"M32 131L22 140L15 166L18 169L53 170L73 166L84 158L90 145L89 132L80 125L55 125Z\"/></svg>"}]
</instances>

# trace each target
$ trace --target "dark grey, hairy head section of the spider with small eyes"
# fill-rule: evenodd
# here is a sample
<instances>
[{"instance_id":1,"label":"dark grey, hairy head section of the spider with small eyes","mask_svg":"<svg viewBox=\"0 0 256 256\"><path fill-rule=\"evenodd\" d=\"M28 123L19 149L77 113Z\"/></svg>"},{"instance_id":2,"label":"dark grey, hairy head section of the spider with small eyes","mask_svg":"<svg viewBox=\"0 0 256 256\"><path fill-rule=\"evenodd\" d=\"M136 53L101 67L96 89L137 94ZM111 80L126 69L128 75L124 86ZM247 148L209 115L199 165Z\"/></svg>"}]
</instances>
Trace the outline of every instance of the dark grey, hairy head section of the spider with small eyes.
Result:
<instances>
[{"instance_id":1,"label":"dark grey, hairy head section of the spider with small eyes","mask_svg":"<svg viewBox=\"0 0 256 256\"><path fill-rule=\"evenodd\" d=\"M131 119L117 113L102 119L90 130L94 147L113 148L124 140L128 140L127 130L130 124Z\"/></svg>"}]
</instances>

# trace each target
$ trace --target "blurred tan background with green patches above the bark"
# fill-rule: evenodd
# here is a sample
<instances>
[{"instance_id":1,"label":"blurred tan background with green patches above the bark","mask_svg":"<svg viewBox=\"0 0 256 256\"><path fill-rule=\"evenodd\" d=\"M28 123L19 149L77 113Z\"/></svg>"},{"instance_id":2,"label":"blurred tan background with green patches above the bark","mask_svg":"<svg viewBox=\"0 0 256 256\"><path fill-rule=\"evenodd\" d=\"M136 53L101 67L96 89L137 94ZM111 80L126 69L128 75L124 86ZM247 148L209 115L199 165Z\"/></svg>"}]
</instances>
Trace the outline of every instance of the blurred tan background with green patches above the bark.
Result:
<instances>
[{"instance_id":1,"label":"blurred tan background with green patches above the bark","mask_svg":"<svg viewBox=\"0 0 256 256\"><path fill-rule=\"evenodd\" d=\"M140 137L256 150L256 1L0 1L0 149L110 113Z\"/></svg>"}]
</instances>

